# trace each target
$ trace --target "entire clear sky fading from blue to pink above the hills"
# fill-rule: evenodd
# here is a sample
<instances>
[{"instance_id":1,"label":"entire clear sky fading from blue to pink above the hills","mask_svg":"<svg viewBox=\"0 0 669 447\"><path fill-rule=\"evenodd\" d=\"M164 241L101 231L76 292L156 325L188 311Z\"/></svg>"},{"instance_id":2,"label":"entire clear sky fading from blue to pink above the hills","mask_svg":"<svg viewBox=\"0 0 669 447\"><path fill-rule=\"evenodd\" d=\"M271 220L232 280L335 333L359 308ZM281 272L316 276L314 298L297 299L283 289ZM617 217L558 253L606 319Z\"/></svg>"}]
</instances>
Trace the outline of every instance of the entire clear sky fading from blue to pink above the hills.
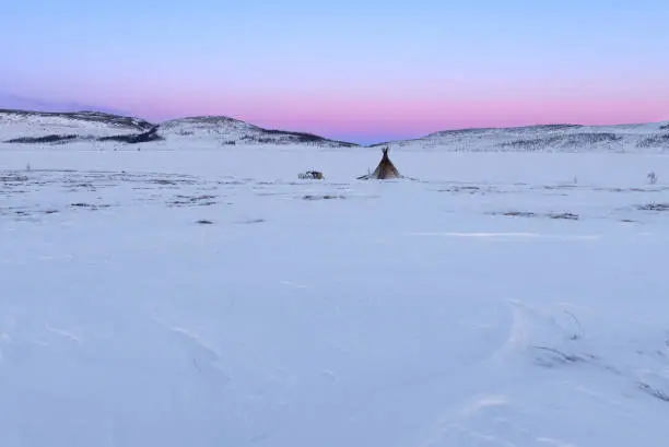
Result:
<instances>
[{"instance_id":1,"label":"entire clear sky fading from blue to pink above the hills","mask_svg":"<svg viewBox=\"0 0 669 447\"><path fill-rule=\"evenodd\" d=\"M324 3L3 0L0 93L357 142L669 120L667 0Z\"/></svg>"}]
</instances>

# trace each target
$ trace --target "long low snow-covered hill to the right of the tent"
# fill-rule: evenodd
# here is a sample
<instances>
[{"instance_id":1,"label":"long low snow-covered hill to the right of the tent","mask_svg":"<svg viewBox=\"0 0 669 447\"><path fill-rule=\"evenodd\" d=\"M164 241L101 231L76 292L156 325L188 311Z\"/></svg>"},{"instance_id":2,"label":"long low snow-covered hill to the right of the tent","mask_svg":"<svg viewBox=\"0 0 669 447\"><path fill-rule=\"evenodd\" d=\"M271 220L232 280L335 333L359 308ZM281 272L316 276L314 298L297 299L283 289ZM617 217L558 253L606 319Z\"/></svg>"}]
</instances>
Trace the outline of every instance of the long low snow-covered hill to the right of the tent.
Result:
<instances>
[{"instance_id":1,"label":"long low snow-covered hill to the right of the tent","mask_svg":"<svg viewBox=\"0 0 669 447\"><path fill-rule=\"evenodd\" d=\"M445 130L392 145L455 152L667 152L669 123Z\"/></svg>"}]
</instances>

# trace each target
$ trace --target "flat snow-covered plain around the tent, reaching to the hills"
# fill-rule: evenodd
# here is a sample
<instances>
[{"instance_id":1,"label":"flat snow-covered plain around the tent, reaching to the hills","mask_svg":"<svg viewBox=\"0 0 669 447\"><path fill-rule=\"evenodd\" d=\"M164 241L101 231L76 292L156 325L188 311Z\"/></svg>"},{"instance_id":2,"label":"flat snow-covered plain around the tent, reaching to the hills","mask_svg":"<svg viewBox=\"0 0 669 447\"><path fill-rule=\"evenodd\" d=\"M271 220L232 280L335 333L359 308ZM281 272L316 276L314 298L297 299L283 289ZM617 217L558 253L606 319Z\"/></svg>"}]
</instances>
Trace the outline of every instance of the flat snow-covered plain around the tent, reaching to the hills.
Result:
<instances>
[{"instance_id":1,"label":"flat snow-covered plain around the tent, reaching to the hills","mask_svg":"<svg viewBox=\"0 0 669 447\"><path fill-rule=\"evenodd\" d=\"M667 443L669 156L40 148L0 146L0 446Z\"/></svg>"}]
</instances>

